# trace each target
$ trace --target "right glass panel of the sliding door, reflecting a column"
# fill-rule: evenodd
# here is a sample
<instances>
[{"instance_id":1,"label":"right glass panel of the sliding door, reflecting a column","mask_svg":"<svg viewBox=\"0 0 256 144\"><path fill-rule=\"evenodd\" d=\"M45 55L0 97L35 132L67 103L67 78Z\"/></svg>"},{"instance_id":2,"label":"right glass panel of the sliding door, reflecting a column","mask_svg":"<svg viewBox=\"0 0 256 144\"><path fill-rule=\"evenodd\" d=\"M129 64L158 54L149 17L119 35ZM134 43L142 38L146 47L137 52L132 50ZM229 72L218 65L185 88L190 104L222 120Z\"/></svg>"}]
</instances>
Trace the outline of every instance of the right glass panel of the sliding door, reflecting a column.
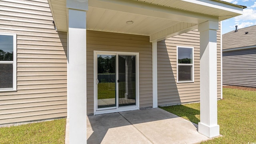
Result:
<instances>
[{"instance_id":1,"label":"right glass panel of the sliding door, reflecting a column","mask_svg":"<svg viewBox=\"0 0 256 144\"><path fill-rule=\"evenodd\" d=\"M136 56L118 55L118 106L136 105Z\"/></svg>"}]
</instances>

